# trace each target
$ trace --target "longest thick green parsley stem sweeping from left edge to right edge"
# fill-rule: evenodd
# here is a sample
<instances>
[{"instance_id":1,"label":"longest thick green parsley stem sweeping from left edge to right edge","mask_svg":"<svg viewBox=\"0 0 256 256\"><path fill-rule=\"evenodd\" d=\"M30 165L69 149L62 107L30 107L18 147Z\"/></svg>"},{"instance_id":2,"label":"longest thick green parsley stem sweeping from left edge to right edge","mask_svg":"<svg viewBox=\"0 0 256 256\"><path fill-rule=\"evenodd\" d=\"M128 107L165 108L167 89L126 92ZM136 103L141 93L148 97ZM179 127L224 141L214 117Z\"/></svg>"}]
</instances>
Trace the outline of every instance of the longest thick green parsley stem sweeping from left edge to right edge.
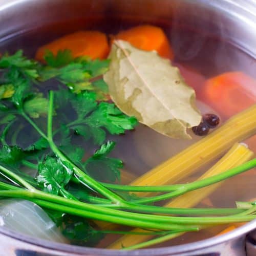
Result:
<instances>
[{"instance_id":1,"label":"longest thick green parsley stem sweeping from left edge to right edge","mask_svg":"<svg viewBox=\"0 0 256 256\"><path fill-rule=\"evenodd\" d=\"M6 185L0 183L2 187L6 187L7 189L11 188L11 185ZM0 186L0 187L1 187ZM35 200L47 200L46 203L55 204L55 208L53 209L58 209L61 210L61 206L68 206L70 207L70 210L65 211L70 214L78 215L81 217L92 217L93 213L96 214L102 214L103 218L100 218L99 220L103 221L109 221L109 222L114 222L117 224L125 224L125 225L131 225L131 226L137 226L137 222L134 223L134 220L142 221L144 223L147 223L147 226L144 224L138 225L138 227L144 227L144 228L156 228L156 229L163 229L163 230L169 230L169 229L177 229L177 228L182 228L182 225L186 225L186 227L189 227L187 225L211 225L211 224L224 224L224 223L229 223L229 222L243 222L243 221L249 221L253 220L255 218L255 215L232 215L232 216L227 216L227 217L172 217L172 216L154 216L154 215L145 215L145 214L137 214L134 212L125 212L125 211L120 211L120 210L113 210L109 208L104 208L101 206L97 205L91 205L87 203L82 203L79 201L75 200L70 200L66 198L62 198L59 196L51 195L42 191L39 191L37 189L34 189L33 191L30 190L25 190L25 189L20 189L20 188L14 188L14 190L9 190L9 191L0 191L0 196L2 197L14 197L14 198L23 198L27 199L30 201L35 202ZM56 206L57 204L57 206ZM60 205L59 205L60 204ZM47 207L45 204L42 205ZM256 206L253 207L254 210L256 209ZM86 210L90 212L90 216L84 215L84 214L79 214L81 212ZM78 211L78 212L77 212ZM252 209L250 210L250 213L254 212ZM101 216L102 217L102 216ZM107 220L105 220L105 218ZM108 217L120 217L123 218L123 222L120 223L119 220L117 219L112 219ZM94 219L92 217L92 219ZM98 219L98 218L95 218ZM125 219L125 220L124 220ZM128 219L129 221L127 222ZM113 221L112 221L113 220ZM154 222L154 223L152 223ZM127 224L128 223L128 224ZM158 225L158 226L156 226ZM165 227L166 225L166 227ZM167 229L166 229L167 228Z\"/></svg>"}]
</instances>

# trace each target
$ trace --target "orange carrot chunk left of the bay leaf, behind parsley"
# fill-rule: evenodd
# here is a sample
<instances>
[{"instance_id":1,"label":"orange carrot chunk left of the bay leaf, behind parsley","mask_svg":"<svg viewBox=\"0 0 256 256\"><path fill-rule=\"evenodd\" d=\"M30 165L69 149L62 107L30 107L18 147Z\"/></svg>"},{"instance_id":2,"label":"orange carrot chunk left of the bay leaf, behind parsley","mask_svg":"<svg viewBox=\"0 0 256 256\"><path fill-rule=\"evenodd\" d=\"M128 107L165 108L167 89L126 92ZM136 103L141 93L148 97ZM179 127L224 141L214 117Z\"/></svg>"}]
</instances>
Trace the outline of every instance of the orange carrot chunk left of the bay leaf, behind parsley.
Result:
<instances>
[{"instance_id":1,"label":"orange carrot chunk left of the bay leaf, behind parsley","mask_svg":"<svg viewBox=\"0 0 256 256\"><path fill-rule=\"evenodd\" d=\"M106 58L110 50L105 34L99 31L78 31L62 36L38 48L35 58L39 61L44 61L46 50L56 55L59 50L65 49L71 50L74 58L89 56L92 59Z\"/></svg>"}]
</instances>

